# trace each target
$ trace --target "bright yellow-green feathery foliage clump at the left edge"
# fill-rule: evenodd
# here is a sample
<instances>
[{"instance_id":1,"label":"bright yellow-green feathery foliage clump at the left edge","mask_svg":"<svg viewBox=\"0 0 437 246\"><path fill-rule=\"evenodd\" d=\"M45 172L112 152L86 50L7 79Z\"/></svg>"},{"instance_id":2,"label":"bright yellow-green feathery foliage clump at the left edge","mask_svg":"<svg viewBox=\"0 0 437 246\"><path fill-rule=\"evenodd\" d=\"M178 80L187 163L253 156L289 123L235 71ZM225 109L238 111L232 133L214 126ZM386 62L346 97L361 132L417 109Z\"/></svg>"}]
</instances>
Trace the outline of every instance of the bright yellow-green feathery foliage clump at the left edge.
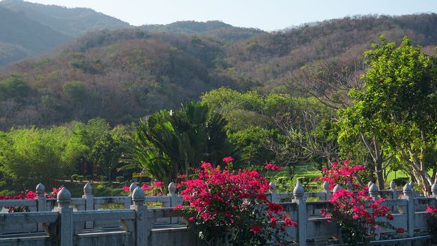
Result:
<instances>
[{"instance_id":1,"label":"bright yellow-green feathery foliage clump at the left edge","mask_svg":"<svg viewBox=\"0 0 437 246\"><path fill-rule=\"evenodd\" d=\"M2 134L2 142L9 146L1 146L1 171L15 187L34 188L39 182L53 185L74 168L62 157L70 134L65 127L12 129Z\"/></svg>"}]
</instances>

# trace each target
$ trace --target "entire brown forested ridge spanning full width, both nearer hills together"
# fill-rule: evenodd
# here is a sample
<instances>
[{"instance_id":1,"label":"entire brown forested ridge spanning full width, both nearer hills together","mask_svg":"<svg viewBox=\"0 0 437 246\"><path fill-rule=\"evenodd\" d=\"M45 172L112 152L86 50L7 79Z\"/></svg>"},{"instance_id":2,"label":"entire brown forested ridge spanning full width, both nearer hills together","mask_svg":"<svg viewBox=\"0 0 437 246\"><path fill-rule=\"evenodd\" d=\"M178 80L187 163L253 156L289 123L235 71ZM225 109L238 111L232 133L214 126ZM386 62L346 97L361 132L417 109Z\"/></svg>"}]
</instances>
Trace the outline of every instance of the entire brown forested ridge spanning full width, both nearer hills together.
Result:
<instances>
[{"instance_id":1,"label":"entire brown forested ridge spanning full width, both nearer hills together","mask_svg":"<svg viewBox=\"0 0 437 246\"><path fill-rule=\"evenodd\" d=\"M219 27L216 30L228 26L209 23L213 24ZM202 28L207 30L202 25L195 34L141 28L91 32L53 56L0 71L0 129L94 117L128 123L162 108L197 101L202 92L219 86L290 92L283 83L289 82L291 73L320 62L348 62L381 34L388 41L409 36L433 52L436 24L436 14L370 15L232 42L201 35Z\"/></svg>"}]
</instances>

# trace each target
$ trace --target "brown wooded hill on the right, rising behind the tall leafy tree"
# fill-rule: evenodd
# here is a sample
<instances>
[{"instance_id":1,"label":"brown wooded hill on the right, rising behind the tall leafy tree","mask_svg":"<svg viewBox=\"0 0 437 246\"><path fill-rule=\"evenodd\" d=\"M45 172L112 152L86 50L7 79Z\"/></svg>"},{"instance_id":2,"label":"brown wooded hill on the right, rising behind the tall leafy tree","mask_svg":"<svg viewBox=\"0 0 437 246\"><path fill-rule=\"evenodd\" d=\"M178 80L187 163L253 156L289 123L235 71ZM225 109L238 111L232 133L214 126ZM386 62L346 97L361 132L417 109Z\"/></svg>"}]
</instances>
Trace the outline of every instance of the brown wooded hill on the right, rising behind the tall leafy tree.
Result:
<instances>
[{"instance_id":1,"label":"brown wooded hill on the right, rising behind the tall leafy tree","mask_svg":"<svg viewBox=\"0 0 437 246\"><path fill-rule=\"evenodd\" d=\"M364 15L355 18L308 23L280 32L259 34L234 42L226 48L222 75L257 84L255 89L270 91L289 81L291 74L301 74L302 67L318 63L345 63L378 43L381 35L387 41L400 42L407 36L427 51L437 45L437 14ZM348 63L348 64L346 64Z\"/></svg>"}]
</instances>

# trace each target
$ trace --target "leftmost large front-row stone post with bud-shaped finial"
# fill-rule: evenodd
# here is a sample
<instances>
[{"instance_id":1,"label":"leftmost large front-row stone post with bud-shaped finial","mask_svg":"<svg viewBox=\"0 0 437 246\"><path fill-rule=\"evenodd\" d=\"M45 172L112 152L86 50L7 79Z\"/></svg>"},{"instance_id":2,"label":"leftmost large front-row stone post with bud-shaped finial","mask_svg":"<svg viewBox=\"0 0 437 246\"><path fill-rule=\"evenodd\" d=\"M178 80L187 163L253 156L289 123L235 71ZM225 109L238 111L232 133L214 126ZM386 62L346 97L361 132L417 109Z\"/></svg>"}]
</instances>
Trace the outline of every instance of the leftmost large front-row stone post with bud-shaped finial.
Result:
<instances>
[{"instance_id":1,"label":"leftmost large front-row stone post with bud-shaped finial","mask_svg":"<svg viewBox=\"0 0 437 246\"><path fill-rule=\"evenodd\" d=\"M58 193L58 207L54 210L59 213L58 245L73 245L73 209L70 208L71 193L62 188Z\"/></svg>"}]
</instances>

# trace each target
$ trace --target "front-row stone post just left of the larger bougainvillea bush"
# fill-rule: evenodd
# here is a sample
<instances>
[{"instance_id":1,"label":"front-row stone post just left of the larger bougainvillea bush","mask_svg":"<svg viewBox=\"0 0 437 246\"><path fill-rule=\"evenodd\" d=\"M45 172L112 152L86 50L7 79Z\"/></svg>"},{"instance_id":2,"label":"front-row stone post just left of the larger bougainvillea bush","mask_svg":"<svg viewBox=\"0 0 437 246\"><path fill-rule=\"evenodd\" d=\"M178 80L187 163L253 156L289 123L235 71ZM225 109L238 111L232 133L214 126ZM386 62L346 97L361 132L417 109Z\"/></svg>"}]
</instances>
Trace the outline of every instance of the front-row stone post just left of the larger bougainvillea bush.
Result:
<instances>
[{"instance_id":1,"label":"front-row stone post just left of the larger bougainvillea bush","mask_svg":"<svg viewBox=\"0 0 437 246\"><path fill-rule=\"evenodd\" d=\"M145 195L138 186L133 190L131 209L136 211L135 219L135 245L148 245L149 229L147 226L147 206L144 205Z\"/></svg>"}]
</instances>

